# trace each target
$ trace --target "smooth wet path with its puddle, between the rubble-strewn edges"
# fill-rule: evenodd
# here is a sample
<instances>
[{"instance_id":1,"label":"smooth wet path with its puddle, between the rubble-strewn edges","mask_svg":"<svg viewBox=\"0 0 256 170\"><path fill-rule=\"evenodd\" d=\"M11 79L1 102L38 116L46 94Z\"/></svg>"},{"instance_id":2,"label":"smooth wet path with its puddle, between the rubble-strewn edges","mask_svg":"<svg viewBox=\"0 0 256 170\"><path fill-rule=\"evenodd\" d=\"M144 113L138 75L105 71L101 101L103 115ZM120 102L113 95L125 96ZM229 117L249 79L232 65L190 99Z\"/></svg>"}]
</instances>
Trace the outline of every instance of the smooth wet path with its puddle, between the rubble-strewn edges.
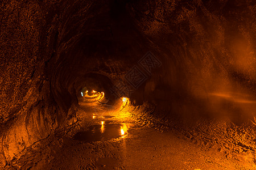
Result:
<instances>
[{"instance_id":1,"label":"smooth wet path with its puddle, between the rubble-strewn edges","mask_svg":"<svg viewBox=\"0 0 256 170\"><path fill-rule=\"evenodd\" d=\"M90 104L91 106L94 104ZM98 105L98 104L97 104ZM84 108L83 108L84 107ZM104 106L105 107L105 106ZM88 125L63 139L43 169L256 169L226 156L215 147L203 147L177 131L161 132L137 125L129 114L86 105ZM87 109L87 110L86 110ZM101 112L101 111L104 111ZM89 119L90 117L90 119ZM89 120L89 121L88 121ZM31 169L37 169L32 167Z\"/></svg>"}]
</instances>

